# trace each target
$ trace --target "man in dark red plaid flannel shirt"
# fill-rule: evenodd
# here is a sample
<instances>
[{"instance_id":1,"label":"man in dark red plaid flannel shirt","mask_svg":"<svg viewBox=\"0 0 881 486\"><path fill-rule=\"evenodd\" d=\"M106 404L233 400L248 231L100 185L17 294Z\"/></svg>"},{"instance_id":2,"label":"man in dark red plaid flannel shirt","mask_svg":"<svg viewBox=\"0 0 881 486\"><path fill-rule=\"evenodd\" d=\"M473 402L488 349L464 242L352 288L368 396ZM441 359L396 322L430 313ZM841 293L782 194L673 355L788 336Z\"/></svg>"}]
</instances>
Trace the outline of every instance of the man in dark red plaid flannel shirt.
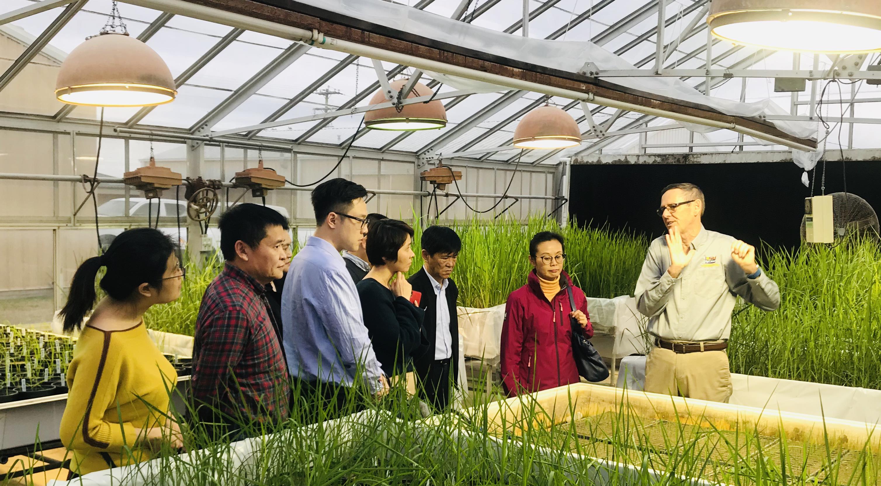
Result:
<instances>
[{"instance_id":1,"label":"man in dark red plaid flannel shirt","mask_svg":"<svg viewBox=\"0 0 881 486\"><path fill-rule=\"evenodd\" d=\"M226 266L199 307L190 383L197 418L215 436L245 438L288 416L290 381L265 288L288 261L287 227L278 211L251 203L220 218Z\"/></svg>"}]
</instances>

